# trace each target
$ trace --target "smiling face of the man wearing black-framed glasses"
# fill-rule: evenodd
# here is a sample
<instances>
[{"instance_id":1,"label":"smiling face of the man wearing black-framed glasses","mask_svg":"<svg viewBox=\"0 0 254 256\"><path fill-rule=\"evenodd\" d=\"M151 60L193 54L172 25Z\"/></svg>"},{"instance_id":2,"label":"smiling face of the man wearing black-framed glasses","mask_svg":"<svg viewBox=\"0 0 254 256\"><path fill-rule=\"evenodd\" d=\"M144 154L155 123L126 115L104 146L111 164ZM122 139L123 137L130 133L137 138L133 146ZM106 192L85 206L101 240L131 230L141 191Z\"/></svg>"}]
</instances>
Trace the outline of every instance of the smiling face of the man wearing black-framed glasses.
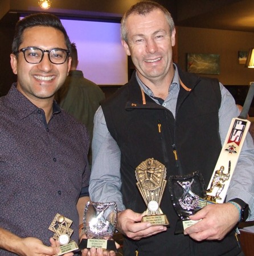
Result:
<instances>
[{"instance_id":1,"label":"smiling face of the man wearing black-framed glasses","mask_svg":"<svg viewBox=\"0 0 254 256\"><path fill-rule=\"evenodd\" d=\"M42 50L67 49L60 30L43 26L24 30L19 49L32 46ZM71 58L63 64L53 64L47 52L44 52L43 59L38 64L27 63L22 52L18 56L11 54L11 68L18 75L17 89L35 105L38 101L54 99L54 94L64 83L70 66Z\"/></svg>"}]
</instances>

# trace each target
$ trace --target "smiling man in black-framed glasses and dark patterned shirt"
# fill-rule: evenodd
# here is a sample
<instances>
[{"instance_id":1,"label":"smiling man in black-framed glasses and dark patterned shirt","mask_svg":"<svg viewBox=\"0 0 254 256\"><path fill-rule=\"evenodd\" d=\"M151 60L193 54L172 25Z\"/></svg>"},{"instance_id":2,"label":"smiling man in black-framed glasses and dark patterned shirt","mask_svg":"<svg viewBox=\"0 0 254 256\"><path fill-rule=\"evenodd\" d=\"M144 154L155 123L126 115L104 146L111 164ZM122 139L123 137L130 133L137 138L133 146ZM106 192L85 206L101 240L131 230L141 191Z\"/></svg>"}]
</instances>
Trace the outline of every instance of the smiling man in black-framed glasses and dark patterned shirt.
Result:
<instances>
[{"instance_id":1,"label":"smiling man in black-framed glasses and dark patterned shirt","mask_svg":"<svg viewBox=\"0 0 254 256\"><path fill-rule=\"evenodd\" d=\"M59 243L48 227L57 213L73 221L71 239L79 241L89 200L89 136L54 101L68 75L70 50L54 15L33 14L17 23L10 58L18 79L0 99L2 256L56 255Z\"/></svg>"}]
</instances>

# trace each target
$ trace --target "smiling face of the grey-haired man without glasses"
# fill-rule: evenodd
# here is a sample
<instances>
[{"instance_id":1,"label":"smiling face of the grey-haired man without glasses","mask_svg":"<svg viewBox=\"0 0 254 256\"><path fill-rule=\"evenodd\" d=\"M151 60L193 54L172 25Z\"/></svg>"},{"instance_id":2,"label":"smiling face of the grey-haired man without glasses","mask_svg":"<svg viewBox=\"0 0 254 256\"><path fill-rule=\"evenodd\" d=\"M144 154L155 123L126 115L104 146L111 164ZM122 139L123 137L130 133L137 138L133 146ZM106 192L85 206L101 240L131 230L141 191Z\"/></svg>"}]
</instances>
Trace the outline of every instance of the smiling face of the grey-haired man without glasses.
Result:
<instances>
[{"instance_id":1,"label":"smiling face of the grey-haired man without glasses","mask_svg":"<svg viewBox=\"0 0 254 256\"><path fill-rule=\"evenodd\" d=\"M169 23L161 10L155 9L146 15L129 15L126 31L128 42L122 40L122 44L126 54L132 56L137 74L144 83L172 76L175 30L170 34Z\"/></svg>"}]
</instances>

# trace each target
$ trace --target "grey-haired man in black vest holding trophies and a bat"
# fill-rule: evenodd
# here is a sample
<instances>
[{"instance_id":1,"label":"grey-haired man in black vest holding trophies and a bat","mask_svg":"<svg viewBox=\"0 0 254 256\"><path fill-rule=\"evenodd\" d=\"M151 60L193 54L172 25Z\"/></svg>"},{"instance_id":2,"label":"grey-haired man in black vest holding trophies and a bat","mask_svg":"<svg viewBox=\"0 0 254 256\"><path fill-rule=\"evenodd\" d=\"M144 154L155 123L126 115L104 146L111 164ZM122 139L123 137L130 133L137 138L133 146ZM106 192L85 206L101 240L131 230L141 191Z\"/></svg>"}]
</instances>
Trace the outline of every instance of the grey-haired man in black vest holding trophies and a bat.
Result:
<instances>
[{"instance_id":1,"label":"grey-haired man in black vest holding trophies and a bat","mask_svg":"<svg viewBox=\"0 0 254 256\"><path fill-rule=\"evenodd\" d=\"M249 134L227 202L200 209L190 216L198 222L175 234L179 217L167 184L160 208L169 226L141 222L147 206L136 185L137 166L153 158L165 165L166 180L199 171L207 188L238 109L217 79L188 74L173 63L174 22L157 2L130 7L121 21L121 38L136 72L95 114L91 200L117 202L117 229L124 234L126 256L243 255L235 227L254 218L254 145Z\"/></svg>"}]
</instances>

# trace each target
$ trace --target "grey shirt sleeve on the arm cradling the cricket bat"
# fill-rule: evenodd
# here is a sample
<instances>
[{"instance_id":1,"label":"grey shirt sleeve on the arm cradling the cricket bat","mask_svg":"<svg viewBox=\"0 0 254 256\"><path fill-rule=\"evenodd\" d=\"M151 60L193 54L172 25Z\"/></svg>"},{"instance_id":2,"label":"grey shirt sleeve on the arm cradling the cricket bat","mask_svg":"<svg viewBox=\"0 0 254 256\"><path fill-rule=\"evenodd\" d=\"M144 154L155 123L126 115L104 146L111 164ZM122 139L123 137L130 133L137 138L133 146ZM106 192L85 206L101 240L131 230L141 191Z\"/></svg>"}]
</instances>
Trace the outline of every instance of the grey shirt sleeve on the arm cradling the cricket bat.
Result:
<instances>
[{"instance_id":1,"label":"grey shirt sleeve on the arm cradling the cricket bat","mask_svg":"<svg viewBox=\"0 0 254 256\"><path fill-rule=\"evenodd\" d=\"M220 84L222 104L219 109L219 133L222 144L227 136L232 118L239 116L240 110L228 90ZM226 201L240 198L249 205L248 221L254 220L254 145L253 139L248 132L243 148L233 172L230 186L227 191Z\"/></svg>"}]
</instances>

